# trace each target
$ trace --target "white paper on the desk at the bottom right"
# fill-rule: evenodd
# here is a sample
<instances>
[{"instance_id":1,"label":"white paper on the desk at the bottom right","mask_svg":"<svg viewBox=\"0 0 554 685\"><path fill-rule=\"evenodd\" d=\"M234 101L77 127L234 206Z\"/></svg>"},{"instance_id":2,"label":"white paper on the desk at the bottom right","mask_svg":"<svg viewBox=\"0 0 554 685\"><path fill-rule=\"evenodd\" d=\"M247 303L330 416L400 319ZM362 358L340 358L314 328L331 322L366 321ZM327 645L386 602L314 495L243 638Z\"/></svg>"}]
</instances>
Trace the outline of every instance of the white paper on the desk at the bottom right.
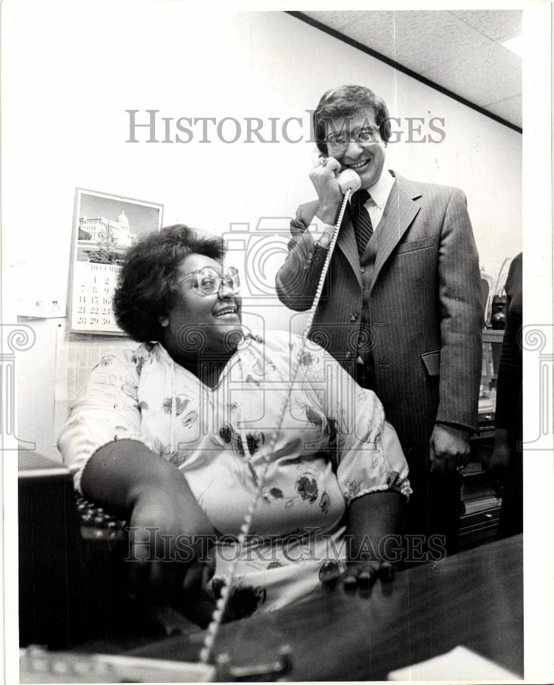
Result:
<instances>
[{"instance_id":1,"label":"white paper on the desk at the bottom right","mask_svg":"<svg viewBox=\"0 0 554 685\"><path fill-rule=\"evenodd\" d=\"M503 669L466 647L455 647L441 656L407 666L405 669L391 671L388 679L446 680L448 682L477 680L481 683L486 680L499 680L503 683L507 680L521 680L519 675Z\"/></svg>"}]
</instances>

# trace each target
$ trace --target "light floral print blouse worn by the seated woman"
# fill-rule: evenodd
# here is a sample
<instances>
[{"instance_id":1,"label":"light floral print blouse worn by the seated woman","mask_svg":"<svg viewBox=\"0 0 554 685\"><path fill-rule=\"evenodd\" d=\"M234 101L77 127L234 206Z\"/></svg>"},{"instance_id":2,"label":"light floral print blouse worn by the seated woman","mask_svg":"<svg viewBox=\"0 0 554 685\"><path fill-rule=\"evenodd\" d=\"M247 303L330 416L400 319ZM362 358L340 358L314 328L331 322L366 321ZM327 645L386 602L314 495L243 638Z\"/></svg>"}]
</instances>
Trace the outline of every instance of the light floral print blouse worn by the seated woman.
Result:
<instances>
[{"instance_id":1,"label":"light floral print blouse worn by the seated woman","mask_svg":"<svg viewBox=\"0 0 554 685\"><path fill-rule=\"evenodd\" d=\"M233 617L320 591L346 559L349 503L378 490L411 492L398 437L376 395L324 349L285 332L245 336L213 389L159 343L104 358L58 440L77 490L88 458L123 438L176 464L221 536L207 593L217 593L239 556L233 536L261 488L252 538L234 569Z\"/></svg>"}]
</instances>

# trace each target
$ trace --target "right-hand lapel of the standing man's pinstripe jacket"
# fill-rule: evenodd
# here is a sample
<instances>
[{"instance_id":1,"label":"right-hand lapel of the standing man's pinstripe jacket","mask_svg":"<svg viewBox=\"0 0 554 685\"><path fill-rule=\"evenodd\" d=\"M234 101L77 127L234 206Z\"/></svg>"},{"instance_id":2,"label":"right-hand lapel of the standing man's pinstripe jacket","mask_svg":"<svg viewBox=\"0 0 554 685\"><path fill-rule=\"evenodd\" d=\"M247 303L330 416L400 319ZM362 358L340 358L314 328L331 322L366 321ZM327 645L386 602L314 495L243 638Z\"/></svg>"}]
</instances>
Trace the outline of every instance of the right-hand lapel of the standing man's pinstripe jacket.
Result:
<instances>
[{"instance_id":1,"label":"right-hand lapel of the standing man's pinstripe jacket","mask_svg":"<svg viewBox=\"0 0 554 685\"><path fill-rule=\"evenodd\" d=\"M421 197L421 193L415 190L415 188L411 188L409 181L396 176L394 186L392 186L387 205L385 206L383 218L379 222L375 235L372 238L372 240L377 240L377 255L373 268L370 292L378 279L383 264L385 264L420 211L420 204L415 202L418 197Z\"/></svg>"}]
</instances>

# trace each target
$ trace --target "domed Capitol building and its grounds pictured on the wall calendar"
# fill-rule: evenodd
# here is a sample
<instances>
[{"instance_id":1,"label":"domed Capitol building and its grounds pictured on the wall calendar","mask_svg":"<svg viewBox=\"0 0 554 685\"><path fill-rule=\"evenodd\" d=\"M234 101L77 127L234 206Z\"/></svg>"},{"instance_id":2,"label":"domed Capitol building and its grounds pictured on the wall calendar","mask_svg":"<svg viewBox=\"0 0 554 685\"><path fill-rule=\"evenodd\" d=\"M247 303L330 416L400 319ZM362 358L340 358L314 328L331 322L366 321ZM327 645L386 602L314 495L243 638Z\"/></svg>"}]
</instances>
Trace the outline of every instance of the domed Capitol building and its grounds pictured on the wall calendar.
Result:
<instances>
[{"instance_id":1,"label":"domed Capitol building and its grounds pictured on the wall calendar","mask_svg":"<svg viewBox=\"0 0 554 685\"><path fill-rule=\"evenodd\" d=\"M125 210L114 221L104 216L79 217L77 260L113 264L121 260L136 236L131 233Z\"/></svg>"}]
</instances>

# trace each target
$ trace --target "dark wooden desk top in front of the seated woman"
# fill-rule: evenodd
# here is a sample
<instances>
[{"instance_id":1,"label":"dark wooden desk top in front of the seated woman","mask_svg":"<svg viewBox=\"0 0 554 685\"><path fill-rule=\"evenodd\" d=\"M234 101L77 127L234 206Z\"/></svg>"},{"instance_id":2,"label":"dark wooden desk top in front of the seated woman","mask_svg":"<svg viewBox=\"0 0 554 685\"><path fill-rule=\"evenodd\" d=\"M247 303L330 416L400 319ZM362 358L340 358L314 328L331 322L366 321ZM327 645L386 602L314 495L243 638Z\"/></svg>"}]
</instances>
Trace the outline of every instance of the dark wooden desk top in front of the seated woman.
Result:
<instances>
[{"instance_id":1,"label":"dark wooden desk top in front of the seated woman","mask_svg":"<svg viewBox=\"0 0 554 685\"><path fill-rule=\"evenodd\" d=\"M202 636L175 636L128 654L195 661ZM457 645L522 676L522 538L398 573L369 600L335 592L229 623L215 653L228 652L236 665L267 662L286 643L288 680L386 680L393 669Z\"/></svg>"}]
</instances>

